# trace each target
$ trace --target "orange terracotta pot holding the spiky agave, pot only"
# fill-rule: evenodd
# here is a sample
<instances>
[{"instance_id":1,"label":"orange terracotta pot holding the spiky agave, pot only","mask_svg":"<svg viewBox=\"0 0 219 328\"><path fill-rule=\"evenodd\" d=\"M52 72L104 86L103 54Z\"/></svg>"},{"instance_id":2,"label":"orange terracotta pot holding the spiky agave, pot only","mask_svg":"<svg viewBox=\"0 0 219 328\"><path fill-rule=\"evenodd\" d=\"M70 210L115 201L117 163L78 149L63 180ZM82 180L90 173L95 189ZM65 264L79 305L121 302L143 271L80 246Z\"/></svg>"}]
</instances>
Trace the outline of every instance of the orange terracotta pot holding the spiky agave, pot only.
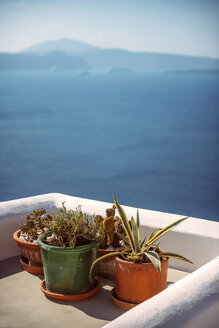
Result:
<instances>
[{"instance_id":1,"label":"orange terracotta pot holding the spiky agave, pot only","mask_svg":"<svg viewBox=\"0 0 219 328\"><path fill-rule=\"evenodd\" d=\"M167 287L168 259L161 261L161 272L152 263L136 264L115 259L115 292L128 303L141 303Z\"/></svg>"}]
</instances>

